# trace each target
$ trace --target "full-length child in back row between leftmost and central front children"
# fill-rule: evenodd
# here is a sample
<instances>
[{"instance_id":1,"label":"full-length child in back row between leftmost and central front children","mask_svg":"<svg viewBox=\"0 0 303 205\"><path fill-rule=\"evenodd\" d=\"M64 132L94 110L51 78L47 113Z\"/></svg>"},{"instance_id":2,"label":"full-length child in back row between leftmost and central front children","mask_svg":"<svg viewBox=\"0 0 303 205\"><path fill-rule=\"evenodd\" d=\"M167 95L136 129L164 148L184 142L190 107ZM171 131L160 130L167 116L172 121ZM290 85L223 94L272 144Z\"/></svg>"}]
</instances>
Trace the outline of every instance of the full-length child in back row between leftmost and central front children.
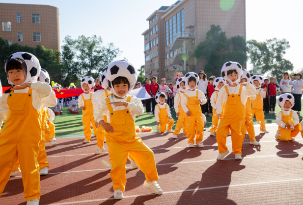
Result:
<instances>
[{"instance_id":1,"label":"full-length child in back row between leftmost and central front children","mask_svg":"<svg viewBox=\"0 0 303 205\"><path fill-rule=\"evenodd\" d=\"M83 123L83 132L85 139L83 141L83 144L86 144L90 142L91 137L91 128L90 125L92 125L94 129L94 135L96 136L96 126L95 126L95 120L93 117L94 114L94 108L93 108L93 102L95 101L96 95L93 92L90 92L91 89L95 86L94 79L92 77L84 77L81 80L81 88L84 91L83 94L81 94L80 98L78 99L78 106L82 110L83 117L82 117L82 123Z\"/></svg>"}]
</instances>

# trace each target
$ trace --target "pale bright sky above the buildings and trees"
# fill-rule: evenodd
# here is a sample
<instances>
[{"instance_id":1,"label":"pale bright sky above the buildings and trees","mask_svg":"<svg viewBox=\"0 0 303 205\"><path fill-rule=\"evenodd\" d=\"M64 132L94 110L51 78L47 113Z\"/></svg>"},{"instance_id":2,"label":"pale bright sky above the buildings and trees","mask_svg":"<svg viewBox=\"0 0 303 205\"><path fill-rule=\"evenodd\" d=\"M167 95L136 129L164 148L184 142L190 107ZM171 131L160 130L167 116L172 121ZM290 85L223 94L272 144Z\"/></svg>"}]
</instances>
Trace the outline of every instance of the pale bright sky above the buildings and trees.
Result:
<instances>
[{"instance_id":1,"label":"pale bright sky above the buildings and trees","mask_svg":"<svg viewBox=\"0 0 303 205\"><path fill-rule=\"evenodd\" d=\"M161 6L176 0L0 0L1 3L27 3L59 9L60 44L65 36L73 39L101 36L104 45L113 43L122 51L117 59L127 58L137 69L144 65L146 21ZM152 3L151 3L152 2ZM247 40L286 39L290 48L285 59L294 70L303 68L303 0L246 0ZM248 61L248 69L251 64Z\"/></svg>"}]
</instances>

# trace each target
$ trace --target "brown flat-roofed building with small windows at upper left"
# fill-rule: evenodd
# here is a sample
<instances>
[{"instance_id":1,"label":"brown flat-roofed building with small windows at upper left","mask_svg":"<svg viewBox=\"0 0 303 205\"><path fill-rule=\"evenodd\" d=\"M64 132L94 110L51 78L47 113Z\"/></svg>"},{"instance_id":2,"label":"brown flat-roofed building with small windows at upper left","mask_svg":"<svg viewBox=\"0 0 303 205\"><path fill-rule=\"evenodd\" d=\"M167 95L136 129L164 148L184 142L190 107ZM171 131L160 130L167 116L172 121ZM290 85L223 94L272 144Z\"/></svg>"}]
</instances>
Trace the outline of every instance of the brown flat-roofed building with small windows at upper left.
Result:
<instances>
[{"instance_id":1,"label":"brown flat-roofed building with small windows at upper left","mask_svg":"<svg viewBox=\"0 0 303 205\"><path fill-rule=\"evenodd\" d=\"M59 9L54 6L0 3L0 22L0 37L10 44L60 51Z\"/></svg>"}]
</instances>

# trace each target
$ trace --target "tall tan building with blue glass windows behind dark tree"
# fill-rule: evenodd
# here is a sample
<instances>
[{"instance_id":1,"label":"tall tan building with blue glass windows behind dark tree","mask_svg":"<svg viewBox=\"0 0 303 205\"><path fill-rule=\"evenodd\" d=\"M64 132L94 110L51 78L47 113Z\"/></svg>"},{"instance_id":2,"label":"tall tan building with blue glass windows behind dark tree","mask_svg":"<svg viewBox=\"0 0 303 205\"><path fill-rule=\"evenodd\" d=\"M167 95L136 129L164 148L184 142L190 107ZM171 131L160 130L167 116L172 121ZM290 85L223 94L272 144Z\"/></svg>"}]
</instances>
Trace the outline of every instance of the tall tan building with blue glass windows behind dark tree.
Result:
<instances>
[{"instance_id":1,"label":"tall tan building with blue glass windows behind dark tree","mask_svg":"<svg viewBox=\"0 0 303 205\"><path fill-rule=\"evenodd\" d=\"M246 39L245 0L178 0L162 6L146 20L144 31L145 76L170 82L176 72L199 72L207 62L194 57L211 25L220 25L227 38Z\"/></svg>"}]
</instances>

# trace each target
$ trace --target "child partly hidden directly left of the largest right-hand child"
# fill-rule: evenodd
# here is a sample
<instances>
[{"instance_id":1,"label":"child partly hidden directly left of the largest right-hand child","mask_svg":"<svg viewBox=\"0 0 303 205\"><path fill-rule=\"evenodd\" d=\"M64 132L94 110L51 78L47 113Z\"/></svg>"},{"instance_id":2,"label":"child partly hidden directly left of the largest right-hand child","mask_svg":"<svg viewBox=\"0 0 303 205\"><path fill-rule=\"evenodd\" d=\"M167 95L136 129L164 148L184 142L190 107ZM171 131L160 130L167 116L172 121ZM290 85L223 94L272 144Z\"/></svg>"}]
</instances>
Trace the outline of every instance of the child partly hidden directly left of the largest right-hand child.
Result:
<instances>
[{"instance_id":1,"label":"child partly hidden directly left of the largest right-hand child","mask_svg":"<svg viewBox=\"0 0 303 205\"><path fill-rule=\"evenodd\" d=\"M223 78L216 78L215 81L214 81L214 89L216 90L215 92L213 92L212 96L210 97L210 103L211 103L211 106L213 108L213 118L212 118L212 128L210 129L210 134L209 136L215 136L216 134L216 130L217 130L217 126L218 126L218 121L219 121L219 118L217 117L217 114L216 114L216 102L217 102L217 98L218 98L218 91L221 90L221 88L223 86L226 85L226 80L224 80Z\"/></svg>"}]
</instances>

